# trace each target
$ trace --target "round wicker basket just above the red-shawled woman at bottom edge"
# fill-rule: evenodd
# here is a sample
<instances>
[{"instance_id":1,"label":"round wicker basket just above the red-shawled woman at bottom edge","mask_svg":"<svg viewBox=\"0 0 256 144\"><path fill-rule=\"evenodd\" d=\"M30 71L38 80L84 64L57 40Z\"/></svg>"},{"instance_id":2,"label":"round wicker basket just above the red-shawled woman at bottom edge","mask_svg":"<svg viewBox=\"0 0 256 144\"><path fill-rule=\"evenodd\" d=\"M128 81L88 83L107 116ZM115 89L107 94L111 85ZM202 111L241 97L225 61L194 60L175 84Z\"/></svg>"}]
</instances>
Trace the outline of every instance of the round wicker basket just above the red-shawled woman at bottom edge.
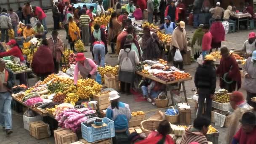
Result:
<instances>
[{"instance_id":1,"label":"round wicker basket just above the red-shawled woman at bottom edge","mask_svg":"<svg viewBox=\"0 0 256 144\"><path fill-rule=\"evenodd\" d=\"M157 126L162 120L143 120L141 122L141 130L146 134L149 135L151 131L155 131Z\"/></svg>"}]
</instances>

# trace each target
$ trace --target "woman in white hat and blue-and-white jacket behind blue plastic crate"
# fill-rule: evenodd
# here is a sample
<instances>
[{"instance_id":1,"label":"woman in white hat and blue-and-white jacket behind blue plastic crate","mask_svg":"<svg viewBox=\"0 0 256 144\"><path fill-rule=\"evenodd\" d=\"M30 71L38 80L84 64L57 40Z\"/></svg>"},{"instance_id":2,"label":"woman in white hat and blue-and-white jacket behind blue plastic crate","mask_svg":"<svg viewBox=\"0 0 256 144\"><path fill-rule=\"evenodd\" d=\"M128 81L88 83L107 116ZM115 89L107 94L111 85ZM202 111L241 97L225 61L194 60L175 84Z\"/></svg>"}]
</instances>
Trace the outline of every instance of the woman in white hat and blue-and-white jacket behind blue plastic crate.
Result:
<instances>
[{"instance_id":1,"label":"woman in white hat and blue-and-white jacket behind blue plastic crate","mask_svg":"<svg viewBox=\"0 0 256 144\"><path fill-rule=\"evenodd\" d=\"M107 108L106 117L114 121L116 133L123 133L128 129L131 111L129 105L119 101L119 98L117 91L109 93L111 105Z\"/></svg>"}]
</instances>

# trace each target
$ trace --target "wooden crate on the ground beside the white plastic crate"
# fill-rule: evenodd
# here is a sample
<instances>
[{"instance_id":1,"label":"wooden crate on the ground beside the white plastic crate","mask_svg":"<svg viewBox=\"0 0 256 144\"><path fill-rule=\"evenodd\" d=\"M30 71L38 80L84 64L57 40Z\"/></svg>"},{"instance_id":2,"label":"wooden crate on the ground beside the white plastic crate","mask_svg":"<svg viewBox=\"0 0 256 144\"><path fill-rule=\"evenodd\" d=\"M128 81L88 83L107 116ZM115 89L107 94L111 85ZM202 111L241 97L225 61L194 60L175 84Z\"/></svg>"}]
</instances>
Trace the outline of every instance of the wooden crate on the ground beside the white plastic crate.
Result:
<instances>
[{"instance_id":1,"label":"wooden crate on the ground beside the white plastic crate","mask_svg":"<svg viewBox=\"0 0 256 144\"><path fill-rule=\"evenodd\" d=\"M44 139L50 137L48 133L48 124L43 121L29 123L29 133L36 139Z\"/></svg>"}]
</instances>

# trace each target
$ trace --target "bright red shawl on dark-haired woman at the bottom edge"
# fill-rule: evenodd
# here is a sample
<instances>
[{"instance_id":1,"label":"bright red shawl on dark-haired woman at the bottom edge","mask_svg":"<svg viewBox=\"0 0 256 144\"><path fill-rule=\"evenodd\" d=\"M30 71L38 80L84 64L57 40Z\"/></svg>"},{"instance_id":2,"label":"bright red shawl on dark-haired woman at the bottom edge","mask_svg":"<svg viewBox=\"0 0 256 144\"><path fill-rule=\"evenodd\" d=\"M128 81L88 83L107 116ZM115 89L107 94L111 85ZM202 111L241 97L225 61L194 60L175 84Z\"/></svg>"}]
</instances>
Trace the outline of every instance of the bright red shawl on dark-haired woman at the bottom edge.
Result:
<instances>
[{"instance_id":1,"label":"bright red shawl on dark-haired woman at the bottom edge","mask_svg":"<svg viewBox=\"0 0 256 144\"><path fill-rule=\"evenodd\" d=\"M149 133L147 139L143 141L136 142L135 144L157 144L163 138L163 135L159 134L158 132L152 131ZM165 144L175 144L171 136L166 135Z\"/></svg>"}]
</instances>

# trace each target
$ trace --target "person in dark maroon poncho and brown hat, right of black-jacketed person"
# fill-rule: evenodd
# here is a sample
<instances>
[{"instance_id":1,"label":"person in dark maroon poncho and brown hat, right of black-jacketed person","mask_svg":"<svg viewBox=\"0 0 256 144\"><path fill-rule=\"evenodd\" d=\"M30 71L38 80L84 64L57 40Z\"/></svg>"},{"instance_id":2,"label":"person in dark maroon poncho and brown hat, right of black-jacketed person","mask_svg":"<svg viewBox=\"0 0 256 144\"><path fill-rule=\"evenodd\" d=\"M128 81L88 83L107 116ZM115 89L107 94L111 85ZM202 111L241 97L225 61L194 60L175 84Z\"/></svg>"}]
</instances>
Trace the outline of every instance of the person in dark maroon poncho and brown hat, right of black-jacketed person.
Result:
<instances>
[{"instance_id":1,"label":"person in dark maroon poncho and brown hat, right of black-jacketed person","mask_svg":"<svg viewBox=\"0 0 256 144\"><path fill-rule=\"evenodd\" d=\"M241 88L240 70L234 56L229 53L229 50L221 48L221 61L216 70L216 74L220 77L220 88L226 89L229 93Z\"/></svg>"}]
</instances>

